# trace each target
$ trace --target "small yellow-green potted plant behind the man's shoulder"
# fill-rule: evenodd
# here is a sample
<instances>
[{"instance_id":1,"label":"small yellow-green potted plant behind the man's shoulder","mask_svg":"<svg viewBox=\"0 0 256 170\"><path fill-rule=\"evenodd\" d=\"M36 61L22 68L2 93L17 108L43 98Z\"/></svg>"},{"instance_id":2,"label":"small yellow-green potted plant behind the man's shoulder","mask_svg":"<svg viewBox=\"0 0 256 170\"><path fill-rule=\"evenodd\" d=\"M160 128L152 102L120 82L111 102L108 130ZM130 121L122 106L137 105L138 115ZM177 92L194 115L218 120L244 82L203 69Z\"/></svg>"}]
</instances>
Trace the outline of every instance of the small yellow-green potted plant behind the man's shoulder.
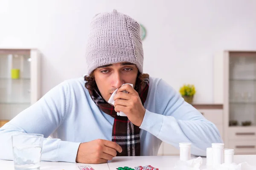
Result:
<instances>
[{"instance_id":1,"label":"small yellow-green potted plant behind the man's shoulder","mask_svg":"<svg viewBox=\"0 0 256 170\"><path fill-rule=\"evenodd\" d=\"M195 92L195 85L184 84L182 87L180 87L180 94L188 103L193 102Z\"/></svg>"}]
</instances>

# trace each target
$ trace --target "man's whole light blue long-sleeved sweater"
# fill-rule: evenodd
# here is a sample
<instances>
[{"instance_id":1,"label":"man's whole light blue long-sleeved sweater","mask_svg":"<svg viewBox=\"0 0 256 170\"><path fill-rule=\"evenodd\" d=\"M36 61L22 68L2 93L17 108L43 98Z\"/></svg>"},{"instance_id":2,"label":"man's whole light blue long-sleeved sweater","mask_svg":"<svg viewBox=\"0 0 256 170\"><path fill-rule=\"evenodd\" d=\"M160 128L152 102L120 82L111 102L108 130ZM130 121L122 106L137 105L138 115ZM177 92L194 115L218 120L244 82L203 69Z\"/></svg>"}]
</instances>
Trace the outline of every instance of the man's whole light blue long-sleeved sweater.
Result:
<instances>
[{"instance_id":1,"label":"man's whole light blue long-sleeved sweater","mask_svg":"<svg viewBox=\"0 0 256 170\"><path fill-rule=\"evenodd\" d=\"M170 85L149 80L141 156L156 156L162 141L177 148L179 142L191 142L191 153L197 156L206 156L212 142L223 142L215 125ZM81 142L111 141L113 121L95 105L82 78L64 81L0 128L0 159L13 159L11 136L22 132L44 134L42 160L76 162Z\"/></svg>"}]
</instances>

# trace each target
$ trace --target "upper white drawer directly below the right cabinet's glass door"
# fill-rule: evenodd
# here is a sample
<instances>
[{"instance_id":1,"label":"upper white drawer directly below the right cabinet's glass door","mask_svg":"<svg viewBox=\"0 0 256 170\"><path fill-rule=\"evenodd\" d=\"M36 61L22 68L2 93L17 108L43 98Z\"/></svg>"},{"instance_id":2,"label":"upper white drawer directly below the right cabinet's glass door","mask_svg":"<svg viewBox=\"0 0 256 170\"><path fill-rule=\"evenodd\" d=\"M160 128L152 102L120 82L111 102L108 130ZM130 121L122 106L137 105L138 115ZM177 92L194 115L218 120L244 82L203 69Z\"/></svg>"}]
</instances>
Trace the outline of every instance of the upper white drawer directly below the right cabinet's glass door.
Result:
<instances>
[{"instance_id":1,"label":"upper white drawer directly below the right cabinet's glass door","mask_svg":"<svg viewBox=\"0 0 256 170\"><path fill-rule=\"evenodd\" d=\"M256 127L229 127L229 139L256 139Z\"/></svg>"}]
</instances>

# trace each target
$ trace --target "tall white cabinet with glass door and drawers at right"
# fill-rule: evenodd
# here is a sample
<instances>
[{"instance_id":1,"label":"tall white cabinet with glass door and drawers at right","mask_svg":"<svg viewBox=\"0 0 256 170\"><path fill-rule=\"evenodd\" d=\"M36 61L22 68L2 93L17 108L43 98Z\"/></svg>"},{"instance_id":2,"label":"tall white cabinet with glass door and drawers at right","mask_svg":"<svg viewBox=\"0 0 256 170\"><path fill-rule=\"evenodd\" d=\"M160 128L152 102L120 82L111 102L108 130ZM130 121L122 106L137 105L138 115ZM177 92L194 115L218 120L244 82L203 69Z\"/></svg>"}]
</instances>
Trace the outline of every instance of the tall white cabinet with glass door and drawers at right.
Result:
<instances>
[{"instance_id":1,"label":"tall white cabinet with glass door and drawers at right","mask_svg":"<svg viewBox=\"0 0 256 170\"><path fill-rule=\"evenodd\" d=\"M256 51L216 54L213 94L224 105L225 147L256 154Z\"/></svg>"}]
</instances>

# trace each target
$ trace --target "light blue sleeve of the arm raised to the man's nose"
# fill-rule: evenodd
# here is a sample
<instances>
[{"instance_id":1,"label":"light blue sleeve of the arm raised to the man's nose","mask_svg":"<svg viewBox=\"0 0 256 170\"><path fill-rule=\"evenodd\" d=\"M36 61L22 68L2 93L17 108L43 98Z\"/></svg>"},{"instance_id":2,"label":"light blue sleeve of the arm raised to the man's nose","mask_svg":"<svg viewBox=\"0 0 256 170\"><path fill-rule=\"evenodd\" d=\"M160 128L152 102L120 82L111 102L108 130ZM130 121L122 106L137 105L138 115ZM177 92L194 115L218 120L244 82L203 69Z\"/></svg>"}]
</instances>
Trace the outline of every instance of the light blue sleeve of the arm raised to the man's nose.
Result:
<instances>
[{"instance_id":1,"label":"light blue sleeve of the arm raised to the man's nose","mask_svg":"<svg viewBox=\"0 0 256 170\"><path fill-rule=\"evenodd\" d=\"M157 113L146 110L141 129L176 148L180 142L190 142L191 153L197 156L206 156L206 148L212 143L223 143L216 126L163 80L156 87L155 97Z\"/></svg>"}]
</instances>

